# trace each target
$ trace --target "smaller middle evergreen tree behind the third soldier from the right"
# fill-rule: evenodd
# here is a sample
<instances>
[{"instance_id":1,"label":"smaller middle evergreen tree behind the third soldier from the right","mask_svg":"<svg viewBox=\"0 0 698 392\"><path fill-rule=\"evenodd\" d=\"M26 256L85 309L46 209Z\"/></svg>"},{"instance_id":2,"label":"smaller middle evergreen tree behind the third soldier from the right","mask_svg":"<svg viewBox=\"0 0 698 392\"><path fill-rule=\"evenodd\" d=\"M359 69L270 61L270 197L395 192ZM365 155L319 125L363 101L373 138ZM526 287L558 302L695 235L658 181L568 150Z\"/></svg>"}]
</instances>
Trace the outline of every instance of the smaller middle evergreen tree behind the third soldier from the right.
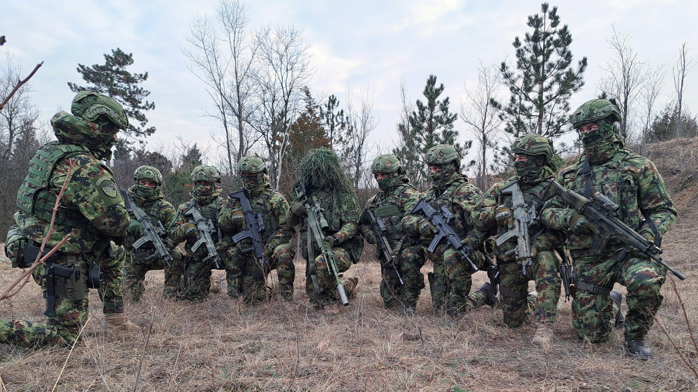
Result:
<instances>
[{"instance_id":1,"label":"smaller middle evergreen tree behind the third soldier from the right","mask_svg":"<svg viewBox=\"0 0 698 392\"><path fill-rule=\"evenodd\" d=\"M443 83L437 87L436 76L429 75L422 92L426 103L417 100L417 110L410 114L409 124L398 124L401 144L393 153L400 158L418 189L426 189L429 184L429 170L424 164L426 151L437 144L452 144L463 157L473 145L472 141L463 146L456 142L458 130L454 129L454 122L458 119L458 114L450 112L449 97L439 100L443 90Z\"/></svg>"}]
</instances>

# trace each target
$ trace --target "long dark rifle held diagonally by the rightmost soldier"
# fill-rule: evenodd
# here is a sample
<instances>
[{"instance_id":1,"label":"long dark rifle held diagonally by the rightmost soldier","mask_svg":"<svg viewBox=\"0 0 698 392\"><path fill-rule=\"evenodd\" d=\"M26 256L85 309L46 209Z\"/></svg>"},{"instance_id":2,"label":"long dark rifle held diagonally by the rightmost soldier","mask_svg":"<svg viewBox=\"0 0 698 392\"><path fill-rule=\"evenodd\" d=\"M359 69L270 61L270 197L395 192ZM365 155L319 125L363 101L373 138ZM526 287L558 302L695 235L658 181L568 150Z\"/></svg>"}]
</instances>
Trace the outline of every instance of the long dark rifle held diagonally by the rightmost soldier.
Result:
<instances>
[{"instance_id":1,"label":"long dark rifle held diagonally by the rightmost soldier","mask_svg":"<svg viewBox=\"0 0 698 392\"><path fill-rule=\"evenodd\" d=\"M560 199L570 205L577 213L581 214L589 221L589 228L596 234L592 252L600 254L610 239L618 239L623 241L626 246L637 248L641 253L647 255L664 268L671 271L677 278L684 280L686 277L680 272L671 268L662 257L662 249L655 243L647 241L644 236L634 231L630 226L623 223L622 220L616 218L618 213L618 204L604 196L600 192L594 193L593 197L588 198L571 189L561 186L557 181L551 181L548 188L545 190L544 199L552 196L559 196ZM618 255L618 260L621 261L628 257L628 249Z\"/></svg>"}]
</instances>

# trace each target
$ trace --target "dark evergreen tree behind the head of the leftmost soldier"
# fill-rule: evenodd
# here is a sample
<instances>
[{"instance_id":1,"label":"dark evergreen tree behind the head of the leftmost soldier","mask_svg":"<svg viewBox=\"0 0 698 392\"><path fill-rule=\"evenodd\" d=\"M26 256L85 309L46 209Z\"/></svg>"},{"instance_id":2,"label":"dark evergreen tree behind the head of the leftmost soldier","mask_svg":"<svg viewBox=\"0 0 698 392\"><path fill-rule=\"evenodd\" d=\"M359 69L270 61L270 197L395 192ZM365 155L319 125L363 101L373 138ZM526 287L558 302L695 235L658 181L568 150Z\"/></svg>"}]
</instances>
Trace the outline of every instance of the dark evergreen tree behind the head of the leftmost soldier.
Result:
<instances>
[{"instance_id":1,"label":"dark evergreen tree behind the head of the leftmost soldier","mask_svg":"<svg viewBox=\"0 0 698 392\"><path fill-rule=\"evenodd\" d=\"M94 64L88 67L78 63L77 72L88 84L79 86L68 82L68 87L74 93L82 90L103 93L120 103L126 111L129 123L124 133L143 144L144 137L155 132L154 126L145 128L148 119L143 113L155 109L155 103L145 100L150 95L150 91L139 86L140 83L148 80L148 73L128 72L126 67L133 65L133 54L126 54L118 47L112 50L111 55L105 54L104 59L104 65ZM121 139L119 144L130 145L133 142Z\"/></svg>"}]
</instances>

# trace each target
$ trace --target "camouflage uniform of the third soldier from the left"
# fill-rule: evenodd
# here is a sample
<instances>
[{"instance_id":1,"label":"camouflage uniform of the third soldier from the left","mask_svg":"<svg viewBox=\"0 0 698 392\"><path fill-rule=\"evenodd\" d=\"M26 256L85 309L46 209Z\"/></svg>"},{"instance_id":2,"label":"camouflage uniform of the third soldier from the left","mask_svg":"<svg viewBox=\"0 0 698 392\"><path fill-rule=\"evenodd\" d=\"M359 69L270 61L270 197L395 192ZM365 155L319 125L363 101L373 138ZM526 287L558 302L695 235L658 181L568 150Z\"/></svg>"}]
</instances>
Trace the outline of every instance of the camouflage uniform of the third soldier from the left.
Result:
<instances>
[{"instance_id":1,"label":"camouflage uniform of the third soldier from the left","mask_svg":"<svg viewBox=\"0 0 698 392\"><path fill-rule=\"evenodd\" d=\"M193 198L198 203L202 216L211 219L214 227L217 227L217 216L221 213L221 208L223 207L223 197L221 197L223 189L220 186L211 186L211 188L210 192L205 192L210 194L208 196L196 196L198 194L196 189L190 195L194 196ZM191 201L188 201L179 204L177 207L177 216L175 216L174 223L172 223L170 229L170 239L174 244L186 241L184 243L184 255L182 256L184 280L181 281L183 289L181 298L188 301L204 301L211 292L211 269L215 268L215 264L203 262L203 259L208 256L206 246L200 246L196 252L191 250L191 246L196 242L196 239L187 236L186 229L189 224L193 224L193 220L190 221L191 216L184 216L184 211L190 205ZM218 239L217 229L211 232L211 237L214 241ZM225 250L223 245L217 245L216 248L218 248L219 255Z\"/></svg>"}]
</instances>

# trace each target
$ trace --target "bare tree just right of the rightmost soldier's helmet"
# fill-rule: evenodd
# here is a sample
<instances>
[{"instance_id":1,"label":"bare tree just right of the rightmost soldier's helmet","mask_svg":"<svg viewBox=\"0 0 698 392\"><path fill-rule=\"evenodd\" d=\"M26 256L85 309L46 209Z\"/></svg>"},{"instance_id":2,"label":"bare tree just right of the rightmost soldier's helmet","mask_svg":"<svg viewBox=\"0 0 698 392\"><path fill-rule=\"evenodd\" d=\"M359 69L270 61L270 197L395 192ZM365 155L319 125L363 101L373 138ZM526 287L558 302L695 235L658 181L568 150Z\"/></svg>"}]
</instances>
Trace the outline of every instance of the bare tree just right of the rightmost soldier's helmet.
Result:
<instances>
[{"instance_id":1,"label":"bare tree just right of the rightmost soldier's helmet","mask_svg":"<svg viewBox=\"0 0 698 392\"><path fill-rule=\"evenodd\" d=\"M614 57L601 67L602 77L599 88L607 95L618 99L623 120L621 135L629 133L630 116L637 101L638 89L645 75L644 63L637 59L637 52L630 46L630 33L623 33L613 28L613 36L607 39Z\"/></svg>"}]
</instances>

